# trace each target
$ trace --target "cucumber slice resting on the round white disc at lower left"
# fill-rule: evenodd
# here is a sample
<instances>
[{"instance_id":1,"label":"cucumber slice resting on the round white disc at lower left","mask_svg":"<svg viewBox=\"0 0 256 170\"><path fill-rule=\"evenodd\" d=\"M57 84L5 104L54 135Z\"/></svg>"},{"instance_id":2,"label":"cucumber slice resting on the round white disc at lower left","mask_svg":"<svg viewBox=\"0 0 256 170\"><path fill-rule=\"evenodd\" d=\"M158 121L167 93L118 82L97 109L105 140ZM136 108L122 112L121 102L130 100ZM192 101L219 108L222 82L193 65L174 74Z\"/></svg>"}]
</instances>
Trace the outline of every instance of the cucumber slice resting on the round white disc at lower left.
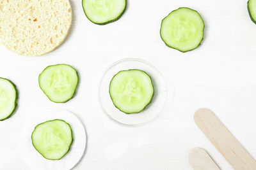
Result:
<instances>
[{"instance_id":1,"label":"cucumber slice resting on the round white disc at lower left","mask_svg":"<svg viewBox=\"0 0 256 170\"><path fill-rule=\"evenodd\" d=\"M70 149L72 129L64 120L49 120L36 125L31 139L35 149L45 159L59 160Z\"/></svg>"}]
</instances>

